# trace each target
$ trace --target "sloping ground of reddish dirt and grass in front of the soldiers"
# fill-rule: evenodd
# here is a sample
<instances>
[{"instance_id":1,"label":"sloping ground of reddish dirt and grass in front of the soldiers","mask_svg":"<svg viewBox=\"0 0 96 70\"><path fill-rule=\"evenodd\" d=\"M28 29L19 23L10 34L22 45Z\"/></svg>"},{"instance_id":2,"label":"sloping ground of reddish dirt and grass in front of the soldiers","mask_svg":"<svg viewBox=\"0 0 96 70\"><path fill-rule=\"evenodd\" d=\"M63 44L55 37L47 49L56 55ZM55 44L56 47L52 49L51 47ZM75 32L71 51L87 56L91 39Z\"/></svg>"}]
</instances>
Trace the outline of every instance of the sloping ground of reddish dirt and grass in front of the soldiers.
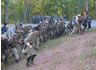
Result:
<instances>
[{"instance_id":1,"label":"sloping ground of reddish dirt and grass in front of the soldiers","mask_svg":"<svg viewBox=\"0 0 96 70\"><path fill-rule=\"evenodd\" d=\"M96 70L96 29L46 42L34 62L26 67L23 59L2 70Z\"/></svg>"}]
</instances>

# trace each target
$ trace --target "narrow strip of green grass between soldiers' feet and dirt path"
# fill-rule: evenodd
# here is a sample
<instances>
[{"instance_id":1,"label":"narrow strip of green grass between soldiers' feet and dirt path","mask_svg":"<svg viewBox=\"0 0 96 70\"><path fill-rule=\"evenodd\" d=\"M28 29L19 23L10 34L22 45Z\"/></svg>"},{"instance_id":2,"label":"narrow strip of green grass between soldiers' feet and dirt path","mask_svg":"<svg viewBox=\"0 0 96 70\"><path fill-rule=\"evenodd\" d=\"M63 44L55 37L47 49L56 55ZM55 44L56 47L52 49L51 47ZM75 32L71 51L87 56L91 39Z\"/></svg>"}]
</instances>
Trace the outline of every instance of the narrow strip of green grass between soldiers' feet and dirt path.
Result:
<instances>
[{"instance_id":1,"label":"narrow strip of green grass between soldiers' feet and dirt path","mask_svg":"<svg viewBox=\"0 0 96 70\"><path fill-rule=\"evenodd\" d=\"M69 38L70 38L69 35L65 35L65 36L62 35L59 38L48 40L42 46L40 46L40 51L43 51L45 48L54 49L54 48L58 47L60 44L64 43L64 41L67 41Z\"/></svg>"}]
</instances>

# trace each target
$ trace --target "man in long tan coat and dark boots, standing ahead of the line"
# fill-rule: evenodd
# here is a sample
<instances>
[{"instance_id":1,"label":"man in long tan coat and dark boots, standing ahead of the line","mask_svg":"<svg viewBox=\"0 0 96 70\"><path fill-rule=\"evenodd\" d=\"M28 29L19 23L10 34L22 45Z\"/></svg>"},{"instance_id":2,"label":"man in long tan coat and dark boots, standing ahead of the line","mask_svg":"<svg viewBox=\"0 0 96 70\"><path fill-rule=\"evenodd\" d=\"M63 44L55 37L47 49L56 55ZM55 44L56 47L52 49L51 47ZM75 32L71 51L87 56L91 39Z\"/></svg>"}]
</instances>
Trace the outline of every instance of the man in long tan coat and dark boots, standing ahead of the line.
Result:
<instances>
[{"instance_id":1,"label":"man in long tan coat and dark boots, standing ahead of the line","mask_svg":"<svg viewBox=\"0 0 96 70\"><path fill-rule=\"evenodd\" d=\"M22 50L22 53L27 53L27 66L32 66L34 64L33 61L37 55L37 47L39 46L37 42L38 33L39 31L30 30L29 35L24 40L26 46Z\"/></svg>"}]
</instances>

